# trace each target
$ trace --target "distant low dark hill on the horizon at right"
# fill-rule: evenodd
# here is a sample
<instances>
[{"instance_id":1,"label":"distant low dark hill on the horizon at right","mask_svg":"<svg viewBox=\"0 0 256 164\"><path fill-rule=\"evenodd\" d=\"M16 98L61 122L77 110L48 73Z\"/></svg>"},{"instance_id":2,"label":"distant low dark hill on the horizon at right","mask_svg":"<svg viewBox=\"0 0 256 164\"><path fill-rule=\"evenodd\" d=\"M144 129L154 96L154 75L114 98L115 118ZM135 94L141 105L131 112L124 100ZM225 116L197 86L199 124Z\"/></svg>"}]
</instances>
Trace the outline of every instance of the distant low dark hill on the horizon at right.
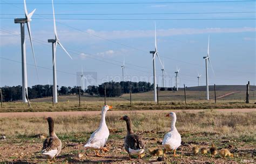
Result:
<instances>
[{"instance_id":1,"label":"distant low dark hill on the horizon at right","mask_svg":"<svg viewBox=\"0 0 256 164\"><path fill-rule=\"evenodd\" d=\"M187 87L187 91L205 91L205 86ZM217 91L246 91L246 85L216 85ZM251 91L256 91L256 86L250 86ZM209 86L209 91L214 91L214 86Z\"/></svg>"}]
</instances>

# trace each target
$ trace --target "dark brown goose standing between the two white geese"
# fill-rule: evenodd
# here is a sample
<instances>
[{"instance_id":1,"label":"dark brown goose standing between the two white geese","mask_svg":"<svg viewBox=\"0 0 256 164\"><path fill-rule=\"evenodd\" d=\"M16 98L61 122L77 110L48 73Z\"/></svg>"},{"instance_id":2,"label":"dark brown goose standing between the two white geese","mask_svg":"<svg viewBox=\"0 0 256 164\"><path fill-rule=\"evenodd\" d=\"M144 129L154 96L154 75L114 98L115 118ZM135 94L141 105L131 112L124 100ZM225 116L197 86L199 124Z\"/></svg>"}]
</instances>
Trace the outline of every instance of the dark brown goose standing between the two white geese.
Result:
<instances>
[{"instance_id":1,"label":"dark brown goose standing between the two white geese","mask_svg":"<svg viewBox=\"0 0 256 164\"><path fill-rule=\"evenodd\" d=\"M131 128L131 120L127 115L120 118L120 120L126 121L127 135L124 139L124 148L125 151L129 153L129 160L131 160L131 154L138 155L138 159L140 159L140 155L144 152L145 149L142 138L139 135L133 133Z\"/></svg>"}]
</instances>

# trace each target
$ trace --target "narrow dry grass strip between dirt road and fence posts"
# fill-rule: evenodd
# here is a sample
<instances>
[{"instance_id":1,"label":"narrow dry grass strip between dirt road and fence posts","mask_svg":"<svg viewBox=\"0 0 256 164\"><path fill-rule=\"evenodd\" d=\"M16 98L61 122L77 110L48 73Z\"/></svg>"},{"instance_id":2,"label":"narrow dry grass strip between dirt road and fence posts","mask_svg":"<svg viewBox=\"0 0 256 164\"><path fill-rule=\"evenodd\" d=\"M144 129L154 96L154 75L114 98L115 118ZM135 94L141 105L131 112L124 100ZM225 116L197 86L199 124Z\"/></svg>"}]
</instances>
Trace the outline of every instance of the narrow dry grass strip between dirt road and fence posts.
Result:
<instances>
[{"instance_id":1,"label":"narrow dry grass strip between dirt road and fence posts","mask_svg":"<svg viewBox=\"0 0 256 164\"><path fill-rule=\"evenodd\" d=\"M114 106L114 110L187 110L187 109L216 109L216 108L255 108L256 104L245 104L239 100L187 100L184 101L159 101L159 105L152 101L117 101L107 100L107 104ZM59 111L100 111L104 101L82 101L79 107L78 101L65 101L52 106L51 103L31 103L32 107L21 102L4 103L0 112L59 112Z\"/></svg>"}]
</instances>

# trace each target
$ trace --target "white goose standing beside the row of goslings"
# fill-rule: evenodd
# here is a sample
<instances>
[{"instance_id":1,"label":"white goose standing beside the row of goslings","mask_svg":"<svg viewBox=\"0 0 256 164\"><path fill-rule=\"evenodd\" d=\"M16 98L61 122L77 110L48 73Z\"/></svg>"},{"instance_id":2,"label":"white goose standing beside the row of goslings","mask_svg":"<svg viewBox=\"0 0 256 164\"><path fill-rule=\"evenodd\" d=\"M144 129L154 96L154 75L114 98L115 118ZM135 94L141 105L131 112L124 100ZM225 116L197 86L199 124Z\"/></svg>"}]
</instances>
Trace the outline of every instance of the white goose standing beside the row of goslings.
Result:
<instances>
[{"instance_id":1,"label":"white goose standing beside the row of goslings","mask_svg":"<svg viewBox=\"0 0 256 164\"><path fill-rule=\"evenodd\" d=\"M177 119L176 113L171 112L171 113L167 114L166 117L172 117L172 124L171 124L171 131L166 133L164 136L164 140L163 140L164 155L165 155L166 151L173 151L174 157L179 156L179 155L176 155L176 149L181 144L181 136L175 127L175 123L176 123L176 119Z\"/></svg>"}]
</instances>

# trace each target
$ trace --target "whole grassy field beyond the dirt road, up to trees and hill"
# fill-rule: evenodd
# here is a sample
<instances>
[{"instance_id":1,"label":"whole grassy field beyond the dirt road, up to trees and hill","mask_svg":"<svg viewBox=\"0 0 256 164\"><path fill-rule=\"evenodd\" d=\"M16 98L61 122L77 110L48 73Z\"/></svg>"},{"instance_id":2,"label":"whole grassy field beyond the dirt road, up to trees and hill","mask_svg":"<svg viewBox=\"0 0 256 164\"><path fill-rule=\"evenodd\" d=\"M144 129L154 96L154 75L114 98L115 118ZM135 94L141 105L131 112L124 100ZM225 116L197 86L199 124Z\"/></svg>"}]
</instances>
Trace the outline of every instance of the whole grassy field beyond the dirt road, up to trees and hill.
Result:
<instances>
[{"instance_id":1,"label":"whole grassy field beyond the dirt road, up to trees and hill","mask_svg":"<svg viewBox=\"0 0 256 164\"><path fill-rule=\"evenodd\" d=\"M219 91L217 97L230 93L229 91ZM213 92L210 92L213 98ZM238 92L227 97L204 100L205 92L187 92L187 104L184 101L184 92L159 92L159 105L152 101L153 92L132 94L132 106L130 106L130 94L122 97L106 98L106 103L114 106L113 110L186 110L186 109L214 109L214 108L255 108L256 100L251 96L250 104L245 103L245 92ZM4 103L0 112L52 112L52 111L99 111L104 105L103 97L81 97L79 107L78 96L59 96L58 104L52 106L52 98L42 98L31 100L31 107L21 102Z\"/></svg>"}]
</instances>

